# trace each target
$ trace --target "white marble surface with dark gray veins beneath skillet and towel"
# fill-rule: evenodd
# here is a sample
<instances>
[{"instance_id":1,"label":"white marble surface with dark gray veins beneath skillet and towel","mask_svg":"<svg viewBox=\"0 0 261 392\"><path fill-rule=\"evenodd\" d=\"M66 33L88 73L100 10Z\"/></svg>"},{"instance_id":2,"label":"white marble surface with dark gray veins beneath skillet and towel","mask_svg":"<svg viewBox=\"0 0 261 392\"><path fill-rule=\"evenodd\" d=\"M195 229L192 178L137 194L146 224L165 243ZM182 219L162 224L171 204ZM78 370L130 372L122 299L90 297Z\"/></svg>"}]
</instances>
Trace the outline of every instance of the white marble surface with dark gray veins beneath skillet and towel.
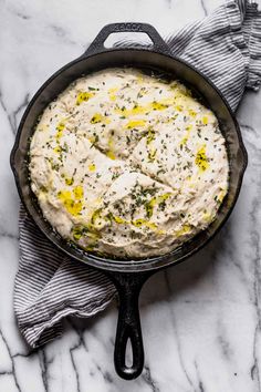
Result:
<instances>
[{"instance_id":1,"label":"white marble surface with dark gray veins beneath skillet and towel","mask_svg":"<svg viewBox=\"0 0 261 392\"><path fill-rule=\"evenodd\" d=\"M163 34L222 0L0 0L0 391L261 391L261 93L238 112L249 167L237 207L203 251L153 277L140 297L146 352L136 381L113 367L115 303L67 320L63 337L35 352L12 308L19 199L9 167L17 124L35 90L114 21L146 21Z\"/></svg>"}]
</instances>

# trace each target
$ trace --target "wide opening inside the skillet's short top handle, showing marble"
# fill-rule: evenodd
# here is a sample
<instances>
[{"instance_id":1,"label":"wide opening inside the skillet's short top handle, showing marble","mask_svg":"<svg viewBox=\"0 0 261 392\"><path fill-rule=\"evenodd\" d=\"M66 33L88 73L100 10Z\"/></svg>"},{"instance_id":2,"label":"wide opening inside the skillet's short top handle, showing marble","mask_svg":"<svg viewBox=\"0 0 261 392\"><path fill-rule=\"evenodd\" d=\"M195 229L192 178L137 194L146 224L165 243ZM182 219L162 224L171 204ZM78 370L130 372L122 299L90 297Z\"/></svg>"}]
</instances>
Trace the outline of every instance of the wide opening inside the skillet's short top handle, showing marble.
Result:
<instances>
[{"instance_id":1,"label":"wide opening inside the skillet's short top handle, showing marble","mask_svg":"<svg viewBox=\"0 0 261 392\"><path fill-rule=\"evenodd\" d=\"M153 45L150 38L144 32L117 32L112 33L104 41L104 47L111 49L113 47L119 47L123 44L140 44L140 45Z\"/></svg>"}]
</instances>

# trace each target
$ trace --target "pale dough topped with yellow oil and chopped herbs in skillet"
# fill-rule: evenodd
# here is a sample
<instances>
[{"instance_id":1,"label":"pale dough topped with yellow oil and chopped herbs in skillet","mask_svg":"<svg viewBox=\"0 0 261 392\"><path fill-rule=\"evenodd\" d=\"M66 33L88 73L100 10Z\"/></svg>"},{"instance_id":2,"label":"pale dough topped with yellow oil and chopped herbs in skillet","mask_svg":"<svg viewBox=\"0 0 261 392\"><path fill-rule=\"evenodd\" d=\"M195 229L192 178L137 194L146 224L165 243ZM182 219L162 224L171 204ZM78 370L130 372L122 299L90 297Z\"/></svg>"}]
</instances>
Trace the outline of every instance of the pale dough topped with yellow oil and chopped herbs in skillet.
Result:
<instances>
[{"instance_id":1,"label":"pale dough topped with yellow oil and chopped herbs in skillet","mask_svg":"<svg viewBox=\"0 0 261 392\"><path fill-rule=\"evenodd\" d=\"M70 84L30 146L31 187L52 227L116 257L163 255L205 229L228 173L215 114L180 82L133 69Z\"/></svg>"}]
</instances>

